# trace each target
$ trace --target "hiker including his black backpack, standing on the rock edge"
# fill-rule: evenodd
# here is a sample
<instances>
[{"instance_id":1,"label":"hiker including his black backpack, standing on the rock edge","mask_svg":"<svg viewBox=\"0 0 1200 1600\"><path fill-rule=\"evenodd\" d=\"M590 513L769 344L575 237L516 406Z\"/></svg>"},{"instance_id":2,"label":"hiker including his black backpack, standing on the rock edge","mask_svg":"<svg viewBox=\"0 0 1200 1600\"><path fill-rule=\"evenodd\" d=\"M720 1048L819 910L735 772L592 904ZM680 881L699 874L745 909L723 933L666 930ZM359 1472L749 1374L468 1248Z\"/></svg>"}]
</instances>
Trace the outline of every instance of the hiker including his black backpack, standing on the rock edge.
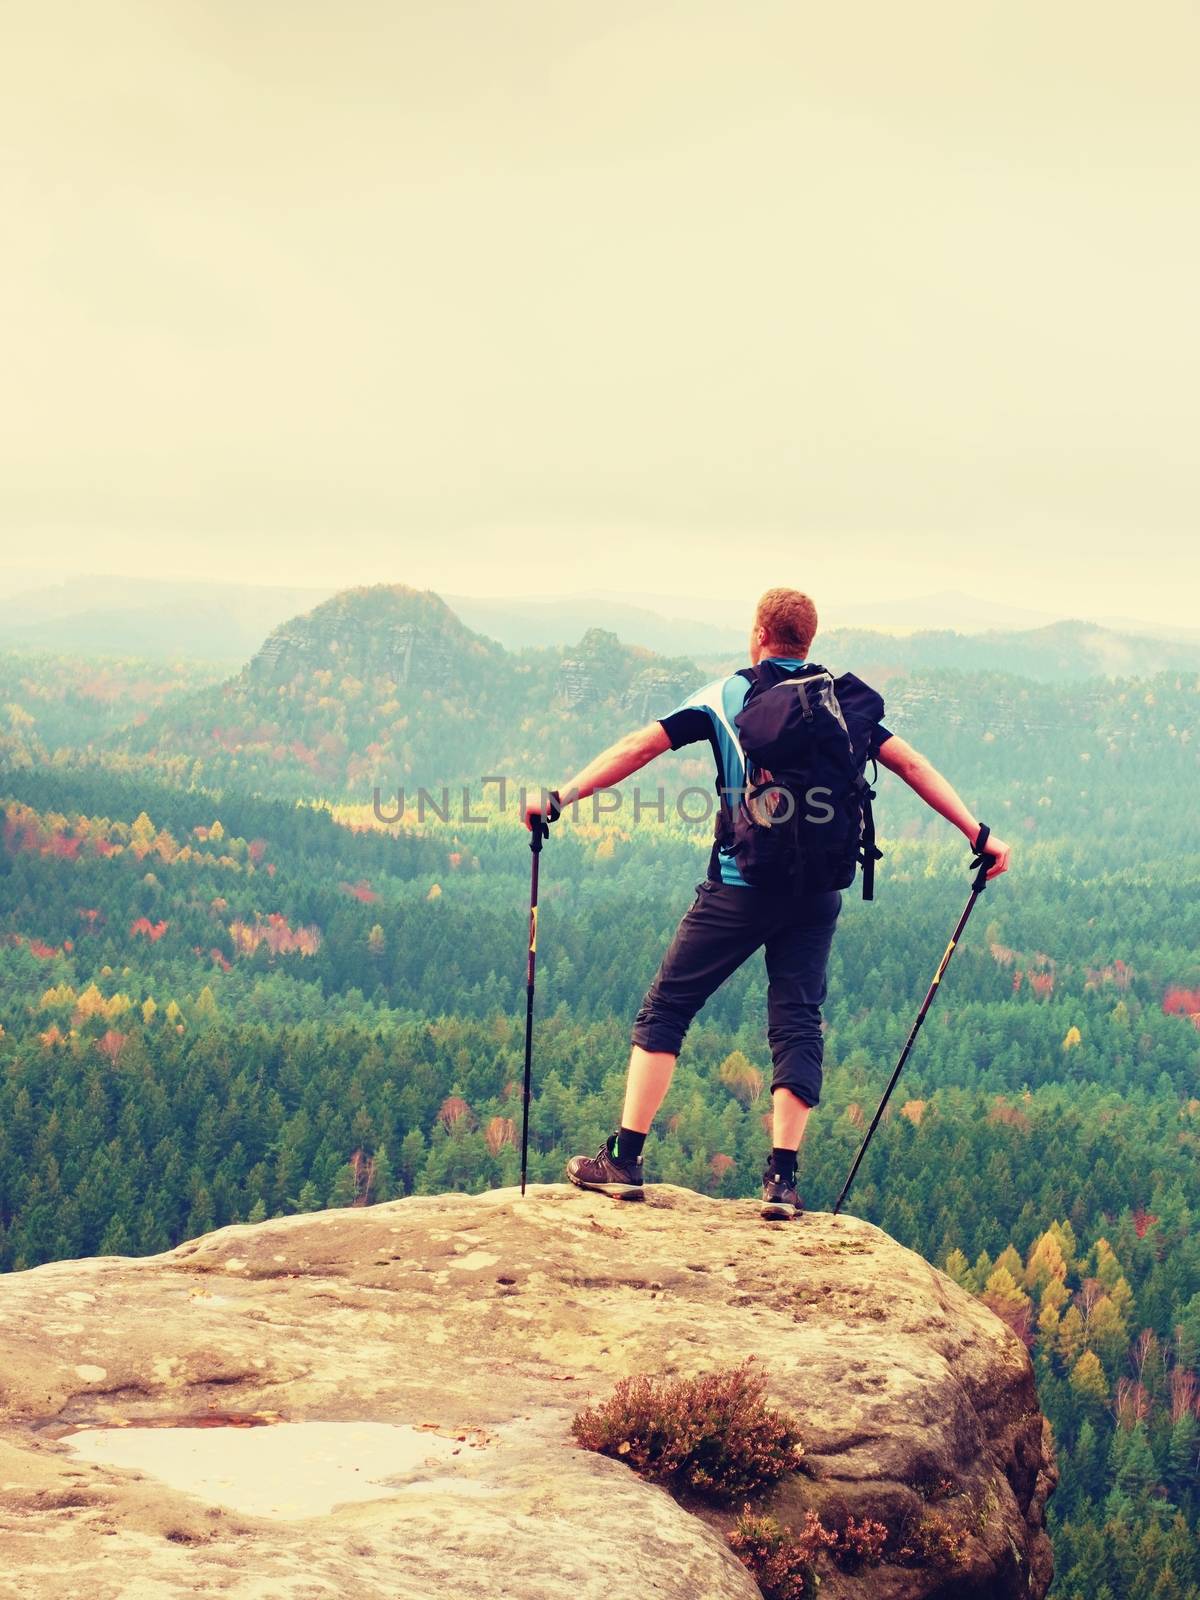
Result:
<instances>
[{"instance_id":1,"label":"hiker including his black backpack, standing on the rock edge","mask_svg":"<svg viewBox=\"0 0 1200 1600\"><path fill-rule=\"evenodd\" d=\"M981 834L946 778L882 723L882 698L856 678L808 661L816 606L797 589L768 589L750 627L750 666L717 678L682 706L618 739L574 778L530 802L552 822L576 800L619 784L664 750L707 739L717 763L717 827L707 877L637 1011L621 1126L566 1176L621 1198L643 1194L650 1125L704 1002L757 949L766 957L773 1149L763 1166L765 1218L792 1218L797 1152L821 1098L821 1006L842 890L862 867L870 898L875 848L864 768L880 762L974 845ZM986 837L987 877L1008 869L1010 846Z\"/></svg>"}]
</instances>

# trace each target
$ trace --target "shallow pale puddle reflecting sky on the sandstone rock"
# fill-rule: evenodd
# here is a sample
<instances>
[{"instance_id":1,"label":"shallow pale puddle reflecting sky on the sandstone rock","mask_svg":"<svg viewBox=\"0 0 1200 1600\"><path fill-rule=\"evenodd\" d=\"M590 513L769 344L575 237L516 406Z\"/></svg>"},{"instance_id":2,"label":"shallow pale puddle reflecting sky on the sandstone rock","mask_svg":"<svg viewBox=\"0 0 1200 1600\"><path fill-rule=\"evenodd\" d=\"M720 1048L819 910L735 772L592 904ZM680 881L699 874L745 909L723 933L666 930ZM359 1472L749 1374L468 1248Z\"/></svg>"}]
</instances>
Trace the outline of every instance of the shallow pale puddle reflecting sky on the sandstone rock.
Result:
<instances>
[{"instance_id":1,"label":"shallow pale puddle reflecting sky on the sandstone rock","mask_svg":"<svg viewBox=\"0 0 1200 1600\"><path fill-rule=\"evenodd\" d=\"M446 1470L488 1435L440 1434L429 1422L283 1422L270 1411L210 1411L74 1424L59 1440L85 1461L150 1474L248 1517L325 1517L352 1501L434 1488L491 1493L474 1477Z\"/></svg>"}]
</instances>

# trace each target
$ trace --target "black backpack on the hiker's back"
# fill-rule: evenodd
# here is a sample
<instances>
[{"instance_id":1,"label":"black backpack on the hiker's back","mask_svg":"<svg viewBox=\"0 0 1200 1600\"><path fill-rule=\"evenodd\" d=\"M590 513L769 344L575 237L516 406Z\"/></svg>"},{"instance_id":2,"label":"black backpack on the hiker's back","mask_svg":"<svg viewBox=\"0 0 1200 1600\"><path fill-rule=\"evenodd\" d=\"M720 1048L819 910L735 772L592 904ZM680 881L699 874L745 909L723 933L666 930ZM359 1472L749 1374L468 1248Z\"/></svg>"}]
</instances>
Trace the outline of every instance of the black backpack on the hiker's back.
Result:
<instances>
[{"instance_id":1,"label":"black backpack on the hiker's back","mask_svg":"<svg viewBox=\"0 0 1200 1600\"><path fill-rule=\"evenodd\" d=\"M816 664L766 661L739 677L750 683L733 718L746 789L722 797L718 850L749 885L797 894L843 890L861 864L862 899L874 899L882 851L866 765L882 696L853 672L835 678Z\"/></svg>"}]
</instances>

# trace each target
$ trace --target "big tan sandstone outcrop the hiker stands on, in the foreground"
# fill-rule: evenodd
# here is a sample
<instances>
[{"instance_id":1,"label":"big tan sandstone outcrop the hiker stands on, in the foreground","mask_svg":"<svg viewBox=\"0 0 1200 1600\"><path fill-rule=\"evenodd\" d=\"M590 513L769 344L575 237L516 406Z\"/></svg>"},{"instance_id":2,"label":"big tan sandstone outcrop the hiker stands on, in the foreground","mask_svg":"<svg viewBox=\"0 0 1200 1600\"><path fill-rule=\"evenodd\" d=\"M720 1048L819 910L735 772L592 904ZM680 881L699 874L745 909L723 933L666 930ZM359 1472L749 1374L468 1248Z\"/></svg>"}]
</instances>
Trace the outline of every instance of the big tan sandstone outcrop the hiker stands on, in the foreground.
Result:
<instances>
[{"instance_id":1,"label":"big tan sandstone outcrop the hiker stands on, in the foreground","mask_svg":"<svg viewBox=\"0 0 1200 1600\"><path fill-rule=\"evenodd\" d=\"M1024 1347L856 1218L667 1184L318 1211L3 1277L0 1349L3 1600L755 1600L736 1507L570 1432L630 1373L750 1354L806 1445L774 1515L957 1530L952 1558L830 1565L824 1600L1050 1582Z\"/></svg>"}]
</instances>

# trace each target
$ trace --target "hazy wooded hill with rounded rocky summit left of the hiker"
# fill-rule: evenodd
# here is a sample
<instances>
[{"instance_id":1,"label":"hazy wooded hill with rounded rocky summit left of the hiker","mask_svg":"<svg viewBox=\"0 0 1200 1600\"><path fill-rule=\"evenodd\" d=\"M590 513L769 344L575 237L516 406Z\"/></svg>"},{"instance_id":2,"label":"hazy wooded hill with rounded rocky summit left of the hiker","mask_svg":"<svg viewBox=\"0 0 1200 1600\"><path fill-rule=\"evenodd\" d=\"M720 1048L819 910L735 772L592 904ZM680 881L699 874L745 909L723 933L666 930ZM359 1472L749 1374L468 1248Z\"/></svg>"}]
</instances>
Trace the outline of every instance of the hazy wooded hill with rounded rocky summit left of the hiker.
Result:
<instances>
[{"instance_id":1,"label":"hazy wooded hill with rounded rocky summit left of the hiker","mask_svg":"<svg viewBox=\"0 0 1200 1600\"><path fill-rule=\"evenodd\" d=\"M275 794L370 798L565 760L669 710L702 674L592 629L573 650L506 651L429 590L344 590L277 627L235 677L126 730L110 749L216 762Z\"/></svg>"}]
</instances>

